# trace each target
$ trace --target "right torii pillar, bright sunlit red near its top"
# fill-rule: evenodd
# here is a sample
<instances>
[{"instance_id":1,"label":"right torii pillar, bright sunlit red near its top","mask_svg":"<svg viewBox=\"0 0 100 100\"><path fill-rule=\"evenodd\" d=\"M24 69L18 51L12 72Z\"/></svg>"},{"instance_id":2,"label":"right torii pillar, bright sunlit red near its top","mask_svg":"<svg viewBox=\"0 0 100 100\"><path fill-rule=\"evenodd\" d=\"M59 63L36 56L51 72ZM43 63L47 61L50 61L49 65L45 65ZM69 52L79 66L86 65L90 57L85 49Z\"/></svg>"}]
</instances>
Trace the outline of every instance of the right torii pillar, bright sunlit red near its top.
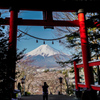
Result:
<instances>
[{"instance_id":1,"label":"right torii pillar, bright sunlit red near its top","mask_svg":"<svg viewBox=\"0 0 100 100\"><path fill-rule=\"evenodd\" d=\"M82 48L82 57L84 65L84 75L85 75L85 84L86 88L90 89L90 84L93 83L93 72L90 71L91 68L88 66L88 61L90 59L89 48L88 48L88 37L87 30L85 25L85 13L83 9L78 11L78 20L80 26L80 39L81 39L81 48Z\"/></svg>"}]
</instances>

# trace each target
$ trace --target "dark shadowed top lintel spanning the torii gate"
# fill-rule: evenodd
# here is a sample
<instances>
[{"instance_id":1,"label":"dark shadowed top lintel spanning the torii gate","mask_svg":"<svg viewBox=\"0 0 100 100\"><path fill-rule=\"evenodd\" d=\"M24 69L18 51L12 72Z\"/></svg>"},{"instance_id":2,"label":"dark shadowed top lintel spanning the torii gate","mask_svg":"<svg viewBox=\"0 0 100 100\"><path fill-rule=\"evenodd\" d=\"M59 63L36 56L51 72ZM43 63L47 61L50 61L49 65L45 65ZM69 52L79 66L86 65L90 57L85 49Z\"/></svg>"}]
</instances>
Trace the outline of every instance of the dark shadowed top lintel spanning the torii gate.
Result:
<instances>
[{"instance_id":1,"label":"dark shadowed top lintel spanning the torii gate","mask_svg":"<svg viewBox=\"0 0 100 100\"><path fill-rule=\"evenodd\" d=\"M16 7L19 10L70 11L83 8L87 12L99 11L99 0L2 0L0 9Z\"/></svg>"}]
</instances>

